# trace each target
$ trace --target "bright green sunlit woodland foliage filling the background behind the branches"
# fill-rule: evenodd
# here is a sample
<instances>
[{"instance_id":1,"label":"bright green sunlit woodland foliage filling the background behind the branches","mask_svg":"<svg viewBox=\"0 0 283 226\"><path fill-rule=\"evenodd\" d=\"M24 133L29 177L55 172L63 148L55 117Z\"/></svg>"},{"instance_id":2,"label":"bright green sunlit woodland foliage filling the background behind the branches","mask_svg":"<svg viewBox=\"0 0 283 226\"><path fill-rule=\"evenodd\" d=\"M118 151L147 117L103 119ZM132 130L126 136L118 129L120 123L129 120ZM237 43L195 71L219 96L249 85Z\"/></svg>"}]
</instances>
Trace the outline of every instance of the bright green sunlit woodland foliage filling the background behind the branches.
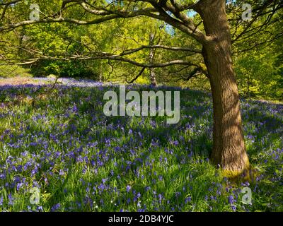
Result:
<instances>
[{"instance_id":1,"label":"bright green sunlit woodland foliage filling the background behind the branches","mask_svg":"<svg viewBox=\"0 0 283 226\"><path fill-rule=\"evenodd\" d=\"M178 3L183 2L183 0L178 1ZM245 97L282 100L283 40L280 33L283 26L282 8L272 16L269 13L262 13L262 16L250 25L250 21L241 21L243 1L229 2L226 11L231 26L233 61L239 93ZM8 7L7 16L0 21L0 25L27 20L31 11L30 4L39 4L40 11L45 15L52 15L59 12L62 3L63 1L54 0L28 1L28 4L23 1L18 2L13 7ZM94 1L88 1L88 3L93 4ZM245 3L255 9L262 4L262 1L247 0ZM105 6L108 3L100 0L96 1L96 4ZM117 1L112 5L112 9L123 8L125 4L128 3ZM139 4L143 4L145 7L150 5L141 2ZM129 6L132 7L132 3L129 3ZM40 14L40 16L44 15ZM67 8L62 16L79 18L80 20L92 20L99 17L86 13L79 5ZM198 28L204 31L200 15L189 10L187 16L190 16L195 24L199 25ZM121 54L127 49L149 45L149 35L153 33L155 35L154 44L202 49L197 41L180 30L164 22L138 16L109 20L96 25L42 23L17 28L11 32L1 32L0 61L5 59L4 63L15 63L45 56L45 59L36 61L31 66L24 66L24 69L30 70L33 76L54 74L62 77L93 78L96 81L126 83L139 74L140 66L106 59L69 60L68 57L86 56L87 58L99 54ZM150 49L143 49L125 56L125 59L148 63L149 52ZM195 65L204 64L201 54L155 49L154 63L175 59L190 61ZM154 71L158 84L209 90L209 80L202 73L197 73L187 81L186 78L189 78L195 69L197 66L173 65L156 68ZM149 69L145 69L135 83L149 83Z\"/></svg>"}]
</instances>

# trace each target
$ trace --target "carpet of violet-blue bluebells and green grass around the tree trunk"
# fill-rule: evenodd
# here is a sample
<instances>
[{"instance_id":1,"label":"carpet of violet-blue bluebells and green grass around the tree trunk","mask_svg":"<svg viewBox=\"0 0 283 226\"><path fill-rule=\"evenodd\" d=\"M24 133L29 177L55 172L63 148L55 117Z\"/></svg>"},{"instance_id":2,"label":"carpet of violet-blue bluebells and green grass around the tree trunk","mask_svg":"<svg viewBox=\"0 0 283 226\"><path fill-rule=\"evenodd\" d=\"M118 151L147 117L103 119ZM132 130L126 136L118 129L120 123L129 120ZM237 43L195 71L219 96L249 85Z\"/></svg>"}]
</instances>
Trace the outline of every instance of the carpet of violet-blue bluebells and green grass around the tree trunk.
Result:
<instances>
[{"instance_id":1,"label":"carpet of violet-blue bluebells and green grass around the tree trunk","mask_svg":"<svg viewBox=\"0 0 283 226\"><path fill-rule=\"evenodd\" d=\"M80 81L0 87L0 211L283 211L283 105L241 100L250 182L209 163L212 98L179 90L166 117L105 117L103 94ZM242 202L244 187L252 204ZM40 190L30 203L30 190Z\"/></svg>"}]
</instances>

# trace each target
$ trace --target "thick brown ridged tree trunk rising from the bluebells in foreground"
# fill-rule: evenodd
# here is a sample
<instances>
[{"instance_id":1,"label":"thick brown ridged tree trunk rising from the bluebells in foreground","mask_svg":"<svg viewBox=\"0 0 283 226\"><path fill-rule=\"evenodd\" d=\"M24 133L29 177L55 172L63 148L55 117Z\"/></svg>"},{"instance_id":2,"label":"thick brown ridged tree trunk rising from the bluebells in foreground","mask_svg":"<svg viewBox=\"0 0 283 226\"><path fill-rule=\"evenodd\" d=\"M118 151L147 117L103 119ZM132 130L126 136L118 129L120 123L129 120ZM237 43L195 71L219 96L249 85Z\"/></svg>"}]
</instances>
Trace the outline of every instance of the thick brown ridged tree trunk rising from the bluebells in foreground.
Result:
<instances>
[{"instance_id":1,"label":"thick brown ridged tree trunk rising from the bluebells in foreground","mask_svg":"<svg viewBox=\"0 0 283 226\"><path fill-rule=\"evenodd\" d=\"M212 88L214 130L212 162L231 177L249 168L241 126L240 99L231 59L231 37L224 0L203 0L198 11L206 35L202 54Z\"/></svg>"}]
</instances>

